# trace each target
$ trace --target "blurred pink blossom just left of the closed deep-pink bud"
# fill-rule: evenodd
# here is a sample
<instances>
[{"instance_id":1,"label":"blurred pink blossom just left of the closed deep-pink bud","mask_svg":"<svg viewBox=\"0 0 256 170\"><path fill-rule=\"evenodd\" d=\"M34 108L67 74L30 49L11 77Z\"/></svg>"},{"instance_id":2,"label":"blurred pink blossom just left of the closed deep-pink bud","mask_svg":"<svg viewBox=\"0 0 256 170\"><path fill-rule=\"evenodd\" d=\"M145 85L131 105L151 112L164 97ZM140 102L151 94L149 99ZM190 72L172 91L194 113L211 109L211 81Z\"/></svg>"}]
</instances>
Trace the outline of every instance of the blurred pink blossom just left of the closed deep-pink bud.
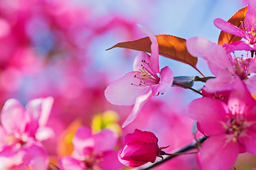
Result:
<instances>
[{"instance_id":1,"label":"blurred pink blossom just left of the closed deep-pink bud","mask_svg":"<svg viewBox=\"0 0 256 170\"><path fill-rule=\"evenodd\" d=\"M92 135L89 128L78 128L73 138L75 151L72 157L63 157L58 164L62 170L121 169L122 164L113 149L116 144L117 134L112 130L104 129Z\"/></svg>"}]
</instances>

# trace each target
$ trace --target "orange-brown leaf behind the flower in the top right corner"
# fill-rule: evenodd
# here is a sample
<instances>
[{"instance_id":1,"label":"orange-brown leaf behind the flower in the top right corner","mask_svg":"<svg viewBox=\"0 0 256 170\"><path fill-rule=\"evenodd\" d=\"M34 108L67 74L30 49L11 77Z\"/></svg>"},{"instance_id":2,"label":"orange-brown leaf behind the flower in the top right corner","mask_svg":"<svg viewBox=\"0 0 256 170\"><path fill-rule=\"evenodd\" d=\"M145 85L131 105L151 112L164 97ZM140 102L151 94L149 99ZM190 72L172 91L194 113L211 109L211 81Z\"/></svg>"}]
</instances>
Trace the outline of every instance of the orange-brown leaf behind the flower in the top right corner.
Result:
<instances>
[{"instance_id":1,"label":"orange-brown leaf behind the flower in the top right corner","mask_svg":"<svg viewBox=\"0 0 256 170\"><path fill-rule=\"evenodd\" d=\"M235 13L235 15L233 15L229 20L228 23L233 24L234 26L242 29L242 23L245 21L245 14L247 12L247 6L245 6L244 8L241 8L238 12ZM223 30L220 32L220 36L218 39L218 44L219 45L224 45L226 44L231 44L232 42L241 40L242 38L230 34L230 33L226 33Z\"/></svg>"}]
</instances>

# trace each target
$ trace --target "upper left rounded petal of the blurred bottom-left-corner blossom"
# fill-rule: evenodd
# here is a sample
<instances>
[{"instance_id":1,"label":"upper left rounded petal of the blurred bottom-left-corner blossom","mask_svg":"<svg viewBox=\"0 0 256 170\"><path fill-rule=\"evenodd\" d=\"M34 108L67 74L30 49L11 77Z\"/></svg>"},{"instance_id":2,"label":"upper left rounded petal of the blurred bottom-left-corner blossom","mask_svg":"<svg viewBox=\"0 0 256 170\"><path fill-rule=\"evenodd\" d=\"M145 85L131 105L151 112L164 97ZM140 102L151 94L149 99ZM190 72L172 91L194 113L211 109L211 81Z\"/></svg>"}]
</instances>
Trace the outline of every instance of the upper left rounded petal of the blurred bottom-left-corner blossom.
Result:
<instances>
[{"instance_id":1,"label":"upper left rounded petal of the blurred bottom-left-corner blossom","mask_svg":"<svg viewBox=\"0 0 256 170\"><path fill-rule=\"evenodd\" d=\"M4 104L1 111L1 123L4 130L9 134L24 132L26 125L24 108L16 99L11 98Z\"/></svg>"}]
</instances>

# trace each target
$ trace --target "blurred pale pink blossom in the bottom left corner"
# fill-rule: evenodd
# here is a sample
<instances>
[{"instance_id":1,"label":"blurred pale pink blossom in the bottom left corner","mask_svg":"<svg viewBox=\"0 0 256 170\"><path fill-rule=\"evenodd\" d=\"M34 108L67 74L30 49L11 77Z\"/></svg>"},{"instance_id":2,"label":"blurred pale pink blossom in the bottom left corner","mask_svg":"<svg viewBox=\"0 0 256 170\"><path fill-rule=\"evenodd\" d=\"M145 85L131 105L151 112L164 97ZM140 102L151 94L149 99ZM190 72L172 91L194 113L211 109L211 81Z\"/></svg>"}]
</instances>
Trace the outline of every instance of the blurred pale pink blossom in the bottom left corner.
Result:
<instances>
[{"instance_id":1,"label":"blurred pale pink blossom in the bottom left corner","mask_svg":"<svg viewBox=\"0 0 256 170\"><path fill-rule=\"evenodd\" d=\"M0 169L22 165L46 169L48 157L37 141L53 135L46 127L52 104L50 97L29 101L25 109L16 99L6 101L1 111Z\"/></svg>"}]
</instances>

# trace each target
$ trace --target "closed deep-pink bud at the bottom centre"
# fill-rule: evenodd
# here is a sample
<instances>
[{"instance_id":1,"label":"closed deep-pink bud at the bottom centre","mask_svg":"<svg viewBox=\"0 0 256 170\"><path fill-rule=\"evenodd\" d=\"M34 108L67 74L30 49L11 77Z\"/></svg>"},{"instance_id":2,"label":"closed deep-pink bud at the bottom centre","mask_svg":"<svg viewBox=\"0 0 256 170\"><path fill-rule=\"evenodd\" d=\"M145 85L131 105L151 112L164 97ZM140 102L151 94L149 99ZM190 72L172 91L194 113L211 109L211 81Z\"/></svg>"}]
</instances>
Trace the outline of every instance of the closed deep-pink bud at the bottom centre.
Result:
<instances>
[{"instance_id":1,"label":"closed deep-pink bud at the bottom centre","mask_svg":"<svg viewBox=\"0 0 256 170\"><path fill-rule=\"evenodd\" d=\"M152 132L134 130L125 136L125 146L119 150L119 162L125 166L137 167L147 162L154 163L160 149L158 139Z\"/></svg>"}]
</instances>

